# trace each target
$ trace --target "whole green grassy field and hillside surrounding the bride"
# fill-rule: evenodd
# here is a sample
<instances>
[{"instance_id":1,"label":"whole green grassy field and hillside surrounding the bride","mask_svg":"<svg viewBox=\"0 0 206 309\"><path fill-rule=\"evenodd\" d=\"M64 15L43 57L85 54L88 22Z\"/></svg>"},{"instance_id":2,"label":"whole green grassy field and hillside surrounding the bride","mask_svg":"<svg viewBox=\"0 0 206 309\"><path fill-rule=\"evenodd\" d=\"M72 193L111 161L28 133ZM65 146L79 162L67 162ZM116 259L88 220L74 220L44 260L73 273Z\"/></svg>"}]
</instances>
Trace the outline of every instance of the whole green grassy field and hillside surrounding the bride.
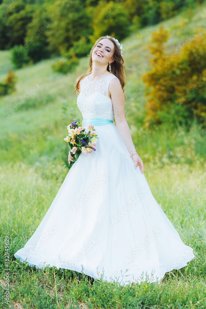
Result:
<instances>
[{"instance_id":1,"label":"whole green grassy field and hillside surrounding the bride","mask_svg":"<svg viewBox=\"0 0 206 309\"><path fill-rule=\"evenodd\" d=\"M205 16L206 3L165 21L163 27L170 33L167 53L193 36L197 27L206 29ZM15 259L14 253L39 226L66 176L66 126L74 118L82 120L74 85L87 70L88 57L67 75L51 70L59 58L44 60L17 70L17 90L0 99L0 308L206 308L206 132L196 119L189 130L169 120L159 127L142 127L145 90L140 78L150 70L146 45L158 28L149 25L122 42L128 51L126 119L153 196L196 257L186 267L167 273L160 285L142 282L125 287L67 269L31 268ZM0 66L3 81L13 68L10 51L0 51ZM4 303L6 235L9 305Z\"/></svg>"}]
</instances>

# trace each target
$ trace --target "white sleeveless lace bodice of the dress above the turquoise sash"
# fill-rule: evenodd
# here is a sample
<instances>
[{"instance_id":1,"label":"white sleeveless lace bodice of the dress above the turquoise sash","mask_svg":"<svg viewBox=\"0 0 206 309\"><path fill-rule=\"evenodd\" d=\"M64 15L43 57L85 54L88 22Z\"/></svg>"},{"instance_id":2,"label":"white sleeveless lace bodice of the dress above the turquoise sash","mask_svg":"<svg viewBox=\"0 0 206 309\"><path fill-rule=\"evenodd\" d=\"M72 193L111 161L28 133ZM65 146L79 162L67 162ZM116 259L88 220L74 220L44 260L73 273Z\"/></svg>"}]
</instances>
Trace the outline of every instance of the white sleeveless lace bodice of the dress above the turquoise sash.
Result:
<instances>
[{"instance_id":1,"label":"white sleeveless lace bodice of the dress above the turquoise sash","mask_svg":"<svg viewBox=\"0 0 206 309\"><path fill-rule=\"evenodd\" d=\"M117 77L111 74L98 81L90 81L86 76L80 80L77 106L83 118L105 118L113 121L113 105L108 96L109 82L113 78Z\"/></svg>"}]
</instances>

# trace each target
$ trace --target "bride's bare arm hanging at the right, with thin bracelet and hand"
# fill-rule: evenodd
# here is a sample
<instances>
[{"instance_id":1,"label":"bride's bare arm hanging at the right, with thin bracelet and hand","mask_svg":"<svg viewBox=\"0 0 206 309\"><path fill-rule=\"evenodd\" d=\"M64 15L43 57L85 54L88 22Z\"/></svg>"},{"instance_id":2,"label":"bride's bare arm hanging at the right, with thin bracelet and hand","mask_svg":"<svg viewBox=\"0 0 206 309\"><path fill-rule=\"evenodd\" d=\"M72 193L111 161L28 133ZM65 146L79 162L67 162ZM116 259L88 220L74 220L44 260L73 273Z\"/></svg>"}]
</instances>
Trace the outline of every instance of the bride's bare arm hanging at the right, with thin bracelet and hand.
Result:
<instances>
[{"instance_id":1,"label":"bride's bare arm hanging at the right, with thin bracelet and hand","mask_svg":"<svg viewBox=\"0 0 206 309\"><path fill-rule=\"evenodd\" d=\"M113 78L109 83L108 92L112 99L114 118L117 129L121 135L121 138L130 153L134 154L136 151L135 146L132 142L132 137L130 134L130 129L125 118L125 96L122 90L121 84L117 78ZM131 157L134 160L134 166L139 165L140 171L143 171L143 163L139 155L133 155Z\"/></svg>"}]
</instances>

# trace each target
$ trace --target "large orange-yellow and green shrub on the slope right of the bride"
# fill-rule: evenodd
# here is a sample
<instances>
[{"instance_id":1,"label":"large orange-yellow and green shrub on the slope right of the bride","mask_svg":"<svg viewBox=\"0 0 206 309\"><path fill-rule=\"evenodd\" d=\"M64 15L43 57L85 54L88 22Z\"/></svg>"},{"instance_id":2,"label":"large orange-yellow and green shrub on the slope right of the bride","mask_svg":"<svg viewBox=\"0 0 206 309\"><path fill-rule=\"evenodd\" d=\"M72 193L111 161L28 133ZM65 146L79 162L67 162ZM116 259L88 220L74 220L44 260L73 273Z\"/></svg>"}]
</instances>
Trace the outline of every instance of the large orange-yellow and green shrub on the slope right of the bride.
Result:
<instances>
[{"instance_id":1,"label":"large orange-yellow and green shrub on the slope right of the bride","mask_svg":"<svg viewBox=\"0 0 206 309\"><path fill-rule=\"evenodd\" d=\"M165 113L170 113L171 121L176 116L180 123L185 122L185 117L189 120L196 116L205 122L206 32L196 29L196 34L187 37L172 55L164 51L168 37L168 31L160 27L152 33L154 45L148 46L154 57L152 70L142 76L147 96L145 125L162 123Z\"/></svg>"}]
</instances>

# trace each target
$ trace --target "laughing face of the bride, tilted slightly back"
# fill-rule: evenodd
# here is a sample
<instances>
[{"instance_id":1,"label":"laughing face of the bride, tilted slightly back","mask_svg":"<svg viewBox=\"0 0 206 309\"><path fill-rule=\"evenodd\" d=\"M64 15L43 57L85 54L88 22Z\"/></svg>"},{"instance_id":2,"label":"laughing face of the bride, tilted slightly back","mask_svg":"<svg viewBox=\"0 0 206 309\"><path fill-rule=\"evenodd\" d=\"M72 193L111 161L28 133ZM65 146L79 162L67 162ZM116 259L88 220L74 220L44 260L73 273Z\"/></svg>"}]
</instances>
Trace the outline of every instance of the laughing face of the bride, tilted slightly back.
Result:
<instances>
[{"instance_id":1,"label":"laughing face of the bride, tilted slightly back","mask_svg":"<svg viewBox=\"0 0 206 309\"><path fill-rule=\"evenodd\" d=\"M114 51L113 42L108 39L102 39L93 49L92 60L98 61L102 64L112 63L113 51Z\"/></svg>"}]
</instances>

